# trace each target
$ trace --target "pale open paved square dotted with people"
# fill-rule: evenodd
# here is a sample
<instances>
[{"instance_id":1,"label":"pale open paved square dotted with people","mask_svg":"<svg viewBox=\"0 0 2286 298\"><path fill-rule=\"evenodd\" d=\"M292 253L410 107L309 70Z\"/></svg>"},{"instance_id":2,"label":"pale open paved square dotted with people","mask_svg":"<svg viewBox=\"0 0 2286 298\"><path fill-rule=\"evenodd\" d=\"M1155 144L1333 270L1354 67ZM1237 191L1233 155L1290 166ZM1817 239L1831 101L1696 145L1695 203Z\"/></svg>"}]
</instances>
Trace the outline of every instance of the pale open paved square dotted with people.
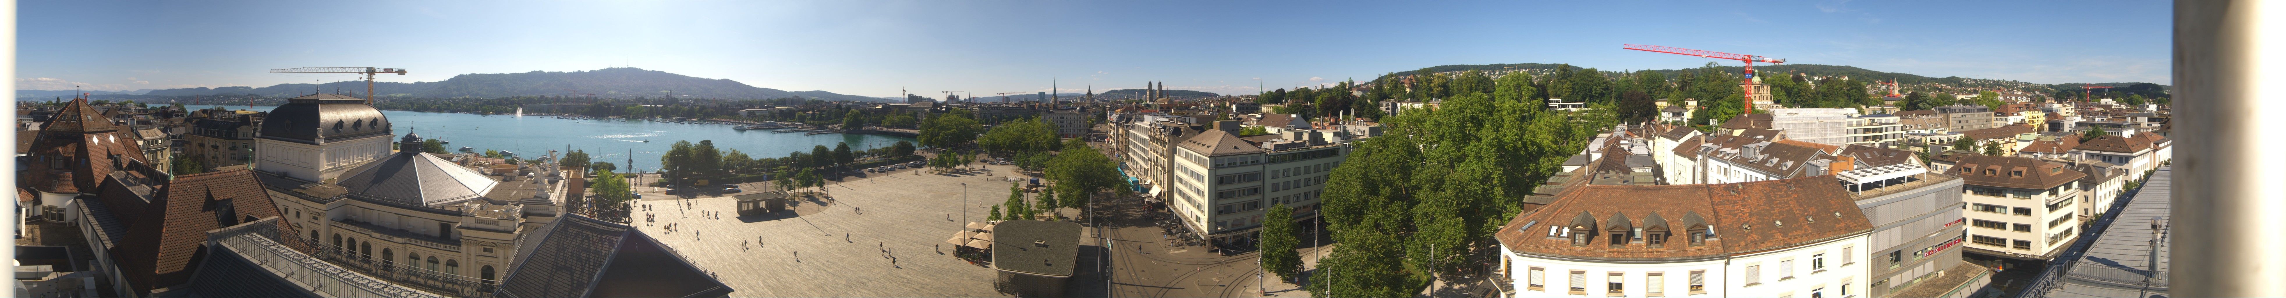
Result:
<instances>
[{"instance_id":1,"label":"pale open paved square dotted with people","mask_svg":"<svg viewBox=\"0 0 2286 298\"><path fill-rule=\"evenodd\" d=\"M732 197L645 195L638 204L649 211L638 206L636 220L736 289L732 296L1004 296L992 291L992 268L951 257L953 248L940 254L937 245L962 229L962 209L967 220L983 220L992 204L1008 199L1006 177L914 172L830 181L832 199L800 202L825 206L807 215L738 218ZM969 183L967 202L960 183ZM645 215L658 220L645 222ZM1081 277L1072 282L1074 296L1088 293L1077 284Z\"/></svg>"}]
</instances>

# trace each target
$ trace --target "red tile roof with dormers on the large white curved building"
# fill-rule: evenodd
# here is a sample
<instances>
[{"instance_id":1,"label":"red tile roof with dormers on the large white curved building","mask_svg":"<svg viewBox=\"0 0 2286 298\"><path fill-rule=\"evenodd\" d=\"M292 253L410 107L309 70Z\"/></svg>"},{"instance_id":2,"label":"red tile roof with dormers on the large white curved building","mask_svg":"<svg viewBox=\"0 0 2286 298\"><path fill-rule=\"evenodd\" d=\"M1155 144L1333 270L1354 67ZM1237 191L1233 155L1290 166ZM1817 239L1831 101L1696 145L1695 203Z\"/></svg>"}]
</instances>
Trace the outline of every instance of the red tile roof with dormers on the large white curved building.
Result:
<instances>
[{"instance_id":1,"label":"red tile roof with dormers on the large white curved building","mask_svg":"<svg viewBox=\"0 0 2286 298\"><path fill-rule=\"evenodd\" d=\"M1660 220L1650 220L1657 215ZM1696 220L1696 222L1694 222ZM1591 232L1589 245L1548 236L1550 227ZM1612 248L1612 227L1666 225L1664 248ZM1527 227L1529 225L1529 227ZM1689 245L1692 229L1714 236ZM1520 213L1493 236L1516 252L1580 259L1703 259L1751 254L1870 232L1872 225L1833 177L1689 186L1570 186L1554 202ZM1646 232L1646 234L1648 234Z\"/></svg>"}]
</instances>

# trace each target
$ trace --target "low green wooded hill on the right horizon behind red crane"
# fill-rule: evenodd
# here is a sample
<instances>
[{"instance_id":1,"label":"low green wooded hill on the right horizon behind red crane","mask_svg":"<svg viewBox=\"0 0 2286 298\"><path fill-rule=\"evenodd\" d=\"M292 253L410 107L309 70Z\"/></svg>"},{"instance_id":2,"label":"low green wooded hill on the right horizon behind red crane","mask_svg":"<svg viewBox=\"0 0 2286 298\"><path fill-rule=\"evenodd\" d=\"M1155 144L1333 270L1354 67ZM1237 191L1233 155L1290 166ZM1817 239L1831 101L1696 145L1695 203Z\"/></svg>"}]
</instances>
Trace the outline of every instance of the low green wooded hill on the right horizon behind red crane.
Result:
<instances>
[{"instance_id":1,"label":"low green wooded hill on the right horizon behind red crane","mask_svg":"<svg viewBox=\"0 0 2286 298\"><path fill-rule=\"evenodd\" d=\"M1442 66L1426 66L1426 71L1433 71L1433 73L1449 73L1449 71L1529 71L1529 73L1550 73L1557 66L1566 66L1566 64L1442 64ZM1577 71L1580 66L1570 66L1570 69ZM1744 66L1714 66L1714 69L1717 71L1726 71L1726 73L1740 73L1740 71L1744 71ZM1932 76L1891 73L1891 71L1872 71L1872 69L1840 66L1840 64L1769 64L1769 66L1753 66L1753 69L1763 71L1763 73L1783 71L1783 73L1804 73L1804 76L1833 76L1833 78L1847 76L1849 80L1859 80L1859 83L1897 80L1897 85L1904 85L1911 92L2025 89L2025 92L2057 94L2057 92L2080 92L2083 85L2108 85L2108 87L2117 87L2112 92L2144 94L2144 96L2167 96L2167 89L2174 89L2169 85L2156 85L2156 83L2064 83L2064 85L2037 85L2037 83L2021 83L2021 80L1987 80L1987 78L1959 78L1959 76L1932 78ZM1607 76L1618 76L1621 71L1630 71L1630 69L1596 69L1596 71L1605 71ZM1692 71L1692 69L1650 69L1650 71L1657 71L1657 73L1664 73L1664 76L1673 78L1678 71ZM1410 73L1420 73L1420 71L1399 71L1399 73L1392 73L1392 76L1410 76Z\"/></svg>"}]
</instances>

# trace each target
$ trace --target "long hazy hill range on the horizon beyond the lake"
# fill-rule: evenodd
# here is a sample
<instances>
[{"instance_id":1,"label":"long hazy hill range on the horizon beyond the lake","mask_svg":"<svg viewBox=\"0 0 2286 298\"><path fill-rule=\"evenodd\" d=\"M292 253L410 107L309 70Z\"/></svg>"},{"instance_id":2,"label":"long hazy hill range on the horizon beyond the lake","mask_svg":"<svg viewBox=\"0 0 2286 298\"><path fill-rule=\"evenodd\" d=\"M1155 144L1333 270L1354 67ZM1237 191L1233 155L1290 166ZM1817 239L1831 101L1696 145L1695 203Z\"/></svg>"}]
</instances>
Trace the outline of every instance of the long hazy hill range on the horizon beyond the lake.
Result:
<instances>
[{"instance_id":1,"label":"long hazy hill range on the horizon beyond the lake","mask_svg":"<svg viewBox=\"0 0 2286 298\"><path fill-rule=\"evenodd\" d=\"M256 96L302 96L311 92L363 94L366 83L325 85L272 85L272 87L190 87L151 89L144 96L210 96L210 94L256 94ZM706 99L784 99L807 96L828 101L887 101L873 96L850 96L834 92L784 92L752 87L729 78L693 78L668 71L645 71L631 66L597 71L528 71L528 73L464 73L437 83L375 83L379 96L457 99L457 96L706 96Z\"/></svg>"}]
</instances>

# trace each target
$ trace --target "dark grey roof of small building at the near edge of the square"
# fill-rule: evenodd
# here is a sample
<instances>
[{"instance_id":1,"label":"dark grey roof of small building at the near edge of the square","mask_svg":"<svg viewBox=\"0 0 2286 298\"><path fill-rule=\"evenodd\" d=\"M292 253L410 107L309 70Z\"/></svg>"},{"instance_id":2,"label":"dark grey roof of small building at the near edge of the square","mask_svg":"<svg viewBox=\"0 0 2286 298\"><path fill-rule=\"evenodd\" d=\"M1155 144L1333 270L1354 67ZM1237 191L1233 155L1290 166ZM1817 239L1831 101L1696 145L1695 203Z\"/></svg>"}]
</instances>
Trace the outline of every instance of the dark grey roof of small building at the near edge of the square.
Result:
<instances>
[{"instance_id":1,"label":"dark grey roof of small building at the near edge of the square","mask_svg":"<svg viewBox=\"0 0 2286 298\"><path fill-rule=\"evenodd\" d=\"M1079 222L1006 220L992 225L992 268L1070 277L1079 268Z\"/></svg>"}]
</instances>

